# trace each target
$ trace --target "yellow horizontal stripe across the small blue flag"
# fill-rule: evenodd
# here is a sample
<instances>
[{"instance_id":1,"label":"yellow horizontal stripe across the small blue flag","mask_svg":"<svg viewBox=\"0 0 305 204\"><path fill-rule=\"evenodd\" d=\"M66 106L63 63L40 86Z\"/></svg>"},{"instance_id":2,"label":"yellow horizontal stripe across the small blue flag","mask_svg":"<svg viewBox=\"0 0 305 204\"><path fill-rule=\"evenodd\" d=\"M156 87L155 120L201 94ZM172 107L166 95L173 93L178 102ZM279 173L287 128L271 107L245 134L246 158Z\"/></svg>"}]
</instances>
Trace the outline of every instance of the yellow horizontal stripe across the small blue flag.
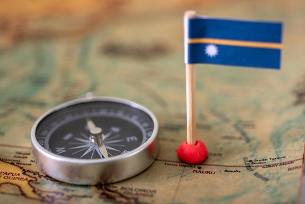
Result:
<instances>
[{"instance_id":1,"label":"yellow horizontal stripe across the small blue flag","mask_svg":"<svg viewBox=\"0 0 305 204\"><path fill-rule=\"evenodd\" d=\"M232 45L232 46L243 46L243 47L258 47L258 48L273 48L281 49L281 43L272 42L255 42L255 41L233 41L233 40L222 40L212 38L191 38L188 40L189 43L211 43L221 45Z\"/></svg>"}]
</instances>

